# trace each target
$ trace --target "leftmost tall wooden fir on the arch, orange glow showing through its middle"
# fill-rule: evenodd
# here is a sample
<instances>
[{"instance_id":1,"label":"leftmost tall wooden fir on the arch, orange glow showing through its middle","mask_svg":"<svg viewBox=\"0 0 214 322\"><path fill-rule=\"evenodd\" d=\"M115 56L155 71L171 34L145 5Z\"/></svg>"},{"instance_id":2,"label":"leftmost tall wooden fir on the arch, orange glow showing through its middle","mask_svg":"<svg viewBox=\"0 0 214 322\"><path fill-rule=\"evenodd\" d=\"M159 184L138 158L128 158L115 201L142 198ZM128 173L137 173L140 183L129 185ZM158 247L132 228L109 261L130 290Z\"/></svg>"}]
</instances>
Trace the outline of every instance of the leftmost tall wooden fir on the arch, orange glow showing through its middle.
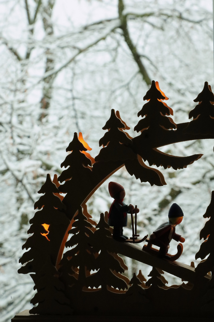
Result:
<instances>
[{"instance_id":1,"label":"leftmost tall wooden fir on the arch, orange glow showing through its middle","mask_svg":"<svg viewBox=\"0 0 214 322\"><path fill-rule=\"evenodd\" d=\"M22 249L28 249L21 259L21 264L28 262L25 266L19 269L19 273L38 272L44 264L47 254L55 254L59 251L60 245L56 243L56 236L64 233L64 227L69 224L69 220L64 214L65 205L60 198L55 195L59 193L58 188L52 182L50 175L47 174L46 182L38 191L42 195L34 204L34 209L37 211L32 219L30 219L30 229L28 233L33 233ZM48 231L44 228L44 224L48 227ZM52 258L56 260L56 256Z\"/></svg>"}]
</instances>

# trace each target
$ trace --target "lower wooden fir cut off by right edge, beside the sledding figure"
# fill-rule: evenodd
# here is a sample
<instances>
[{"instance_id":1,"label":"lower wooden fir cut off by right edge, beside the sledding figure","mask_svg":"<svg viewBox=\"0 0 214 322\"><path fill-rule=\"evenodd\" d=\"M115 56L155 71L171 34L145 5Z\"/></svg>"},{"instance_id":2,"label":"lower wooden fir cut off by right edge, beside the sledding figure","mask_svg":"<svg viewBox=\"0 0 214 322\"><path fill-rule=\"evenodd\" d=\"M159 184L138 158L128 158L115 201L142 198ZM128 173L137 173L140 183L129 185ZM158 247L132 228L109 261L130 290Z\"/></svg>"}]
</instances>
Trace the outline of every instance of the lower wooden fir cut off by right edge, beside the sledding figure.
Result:
<instances>
[{"instance_id":1,"label":"lower wooden fir cut off by right edge, beside the sledding figure","mask_svg":"<svg viewBox=\"0 0 214 322\"><path fill-rule=\"evenodd\" d=\"M212 271L214 266L214 191L212 191L210 204L203 217L210 218L210 220L201 229L200 240L203 238L204 242L195 255L195 259L201 258L202 260L209 255L206 260L199 263L195 268L195 272L202 276Z\"/></svg>"}]
</instances>

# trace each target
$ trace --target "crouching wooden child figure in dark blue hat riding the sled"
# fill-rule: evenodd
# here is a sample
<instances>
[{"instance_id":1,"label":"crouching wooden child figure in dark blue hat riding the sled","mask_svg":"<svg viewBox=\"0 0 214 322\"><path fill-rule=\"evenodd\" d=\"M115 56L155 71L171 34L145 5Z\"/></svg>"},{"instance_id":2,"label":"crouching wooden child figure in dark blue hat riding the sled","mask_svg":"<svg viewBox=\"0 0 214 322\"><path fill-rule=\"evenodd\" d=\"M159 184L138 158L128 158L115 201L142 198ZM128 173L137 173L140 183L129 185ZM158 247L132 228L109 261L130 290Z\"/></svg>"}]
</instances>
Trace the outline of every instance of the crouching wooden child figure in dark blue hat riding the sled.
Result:
<instances>
[{"instance_id":1,"label":"crouching wooden child figure in dark blue hat riding the sled","mask_svg":"<svg viewBox=\"0 0 214 322\"><path fill-rule=\"evenodd\" d=\"M160 247L159 256L163 257L167 254L169 243L172 239L176 242L185 242L185 238L176 234L175 227L183 220L184 213L178 204L172 204L168 213L168 222L162 223L151 235L152 244Z\"/></svg>"}]
</instances>

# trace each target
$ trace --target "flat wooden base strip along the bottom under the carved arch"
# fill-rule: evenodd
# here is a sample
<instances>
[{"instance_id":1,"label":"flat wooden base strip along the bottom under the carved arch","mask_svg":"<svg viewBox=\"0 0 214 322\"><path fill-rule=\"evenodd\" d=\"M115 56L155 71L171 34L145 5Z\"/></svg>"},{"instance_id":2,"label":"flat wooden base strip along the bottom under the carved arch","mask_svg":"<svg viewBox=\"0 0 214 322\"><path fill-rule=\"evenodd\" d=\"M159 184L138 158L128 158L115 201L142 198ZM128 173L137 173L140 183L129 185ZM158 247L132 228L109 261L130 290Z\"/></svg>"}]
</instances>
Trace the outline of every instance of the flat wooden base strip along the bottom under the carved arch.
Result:
<instances>
[{"instance_id":1,"label":"flat wooden base strip along the bottom under the carved arch","mask_svg":"<svg viewBox=\"0 0 214 322\"><path fill-rule=\"evenodd\" d=\"M38 315L30 314L29 310L24 310L17 315L15 315L11 322L30 322L30 321L55 321L55 322L64 322L64 321L76 321L76 322L143 322L148 320L149 322L171 322L172 317L144 317L144 316L94 316L94 315ZM213 322L213 318L205 317L173 317L174 322Z\"/></svg>"}]
</instances>

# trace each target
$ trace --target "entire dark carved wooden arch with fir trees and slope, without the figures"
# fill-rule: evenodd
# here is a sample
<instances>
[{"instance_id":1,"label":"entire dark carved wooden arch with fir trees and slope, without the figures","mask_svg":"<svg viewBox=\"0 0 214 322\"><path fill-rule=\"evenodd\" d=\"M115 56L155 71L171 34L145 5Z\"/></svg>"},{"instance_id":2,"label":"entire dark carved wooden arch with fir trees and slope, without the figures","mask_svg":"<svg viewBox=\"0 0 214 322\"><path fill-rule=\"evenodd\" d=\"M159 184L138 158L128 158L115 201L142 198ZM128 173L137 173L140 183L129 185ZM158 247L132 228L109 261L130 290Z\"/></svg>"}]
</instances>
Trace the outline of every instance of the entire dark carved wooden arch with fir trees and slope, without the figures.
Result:
<instances>
[{"instance_id":1,"label":"entire dark carved wooden arch with fir trees and slope, without the figures","mask_svg":"<svg viewBox=\"0 0 214 322\"><path fill-rule=\"evenodd\" d=\"M61 164L64 167L61 175L58 178L55 175L53 181L47 175L39 190L42 195L35 203L38 211L30 219L31 236L22 247L27 251L21 256L22 267L18 271L31 273L37 290L31 303L37 306L30 310L31 315L27 313L23 319L19 315L12 320L26 322L38 314L59 315L58 320L63 315L73 315L73 319L83 316L84 320L89 316L101 319L107 315L153 316L171 321L175 316L175 298L180 317L204 314L207 318L213 317L214 288L210 271L214 267L214 192L204 214L204 218L210 219L200 233L205 242L196 254L202 260L208 257L196 268L156 256L139 244L113 239L112 227L107 223L108 209L100 214L99 223L93 218L95 210L91 214L87 211L90 197L122 166L141 182L166 185L162 172L152 165L176 170L191 165L202 154L172 156L161 152L159 147L214 138L214 96L207 82L194 100L199 104L190 112L189 117L193 117L190 122L175 124L173 110L165 103L168 98L158 82L152 81L144 100L147 103L139 111L141 119L134 127L137 136L128 134L129 126L119 111L112 109L103 127L106 132L99 140L98 155L91 156L91 148L82 133L79 136L74 133L66 149L69 154ZM151 266L150 278L146 280L143 271L139 271L138 275L133 272L129 280L125 275L128 269L125 257ZM167 287L164 272L185 283Z\"/></svg>"}]
</instances>

